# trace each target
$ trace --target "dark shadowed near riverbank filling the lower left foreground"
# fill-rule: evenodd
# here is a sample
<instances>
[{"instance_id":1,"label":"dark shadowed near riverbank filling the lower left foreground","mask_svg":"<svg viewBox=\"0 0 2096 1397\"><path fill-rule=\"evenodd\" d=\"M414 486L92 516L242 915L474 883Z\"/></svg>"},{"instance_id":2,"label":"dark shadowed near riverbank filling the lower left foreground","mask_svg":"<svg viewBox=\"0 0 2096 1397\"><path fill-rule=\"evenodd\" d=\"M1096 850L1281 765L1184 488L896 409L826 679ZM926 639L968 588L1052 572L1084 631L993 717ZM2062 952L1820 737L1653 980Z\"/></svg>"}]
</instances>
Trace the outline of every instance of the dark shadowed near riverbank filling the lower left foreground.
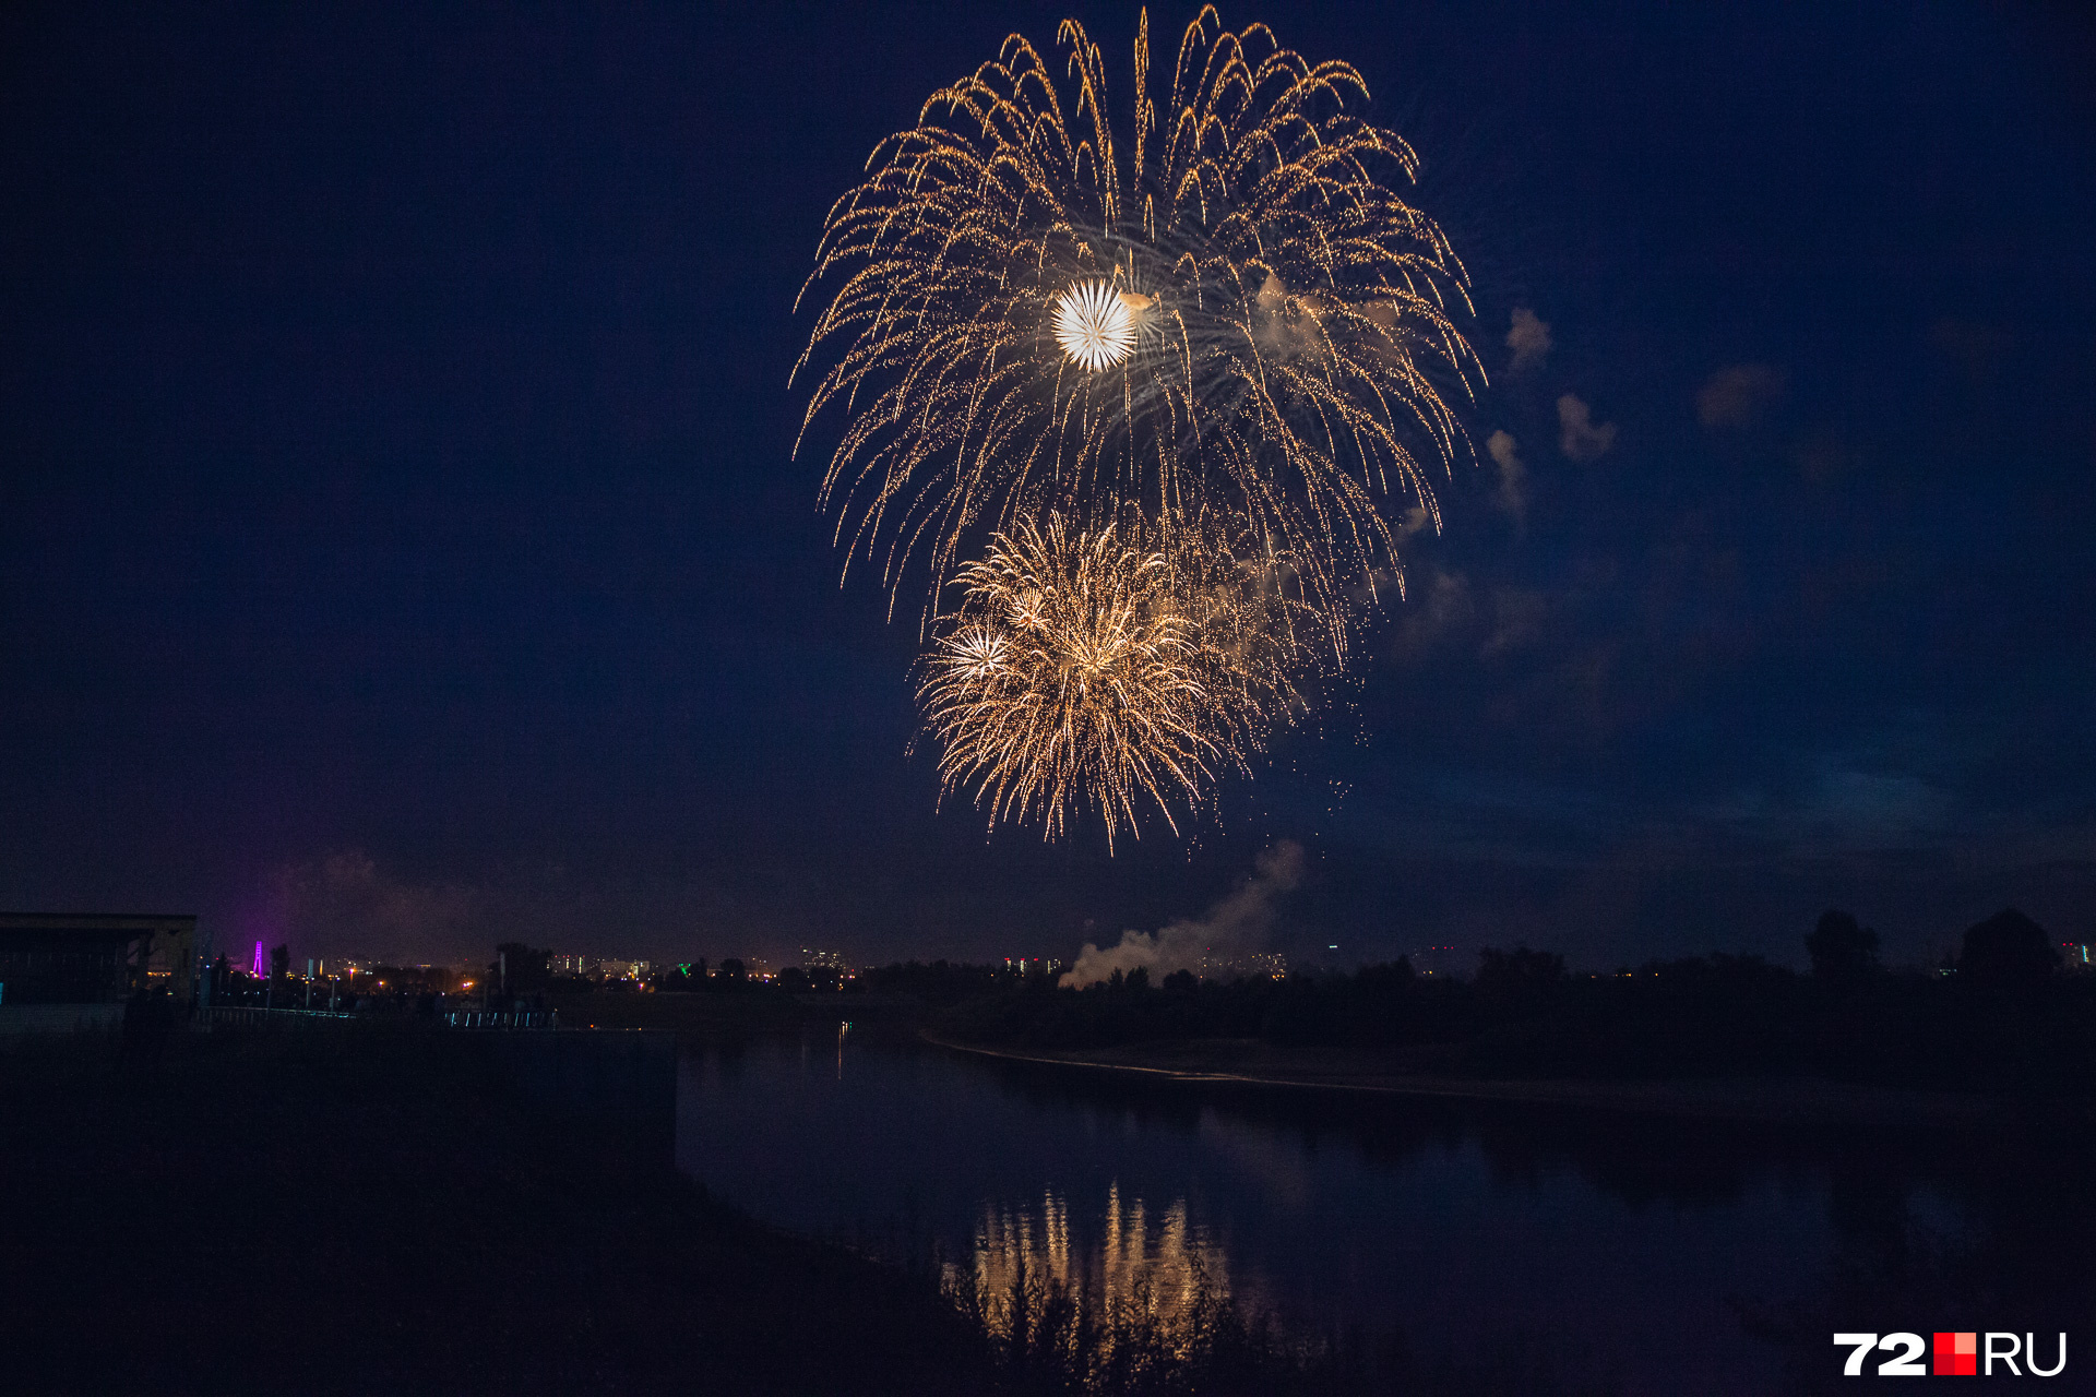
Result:
<instances>
[{"instance_id":1,"label":"dark shadowed near riverbank filling the lower left foreground","mask_svg":"<svg viewBox=\"0 0 2096 1397\"><path fill-rule=\"evenodd\" d=\"M501 1035L0 1054L19 1393L981 1393L926 1280L763 1227L660 1110L532 1095Z\"/></svg>"}]
</instances>

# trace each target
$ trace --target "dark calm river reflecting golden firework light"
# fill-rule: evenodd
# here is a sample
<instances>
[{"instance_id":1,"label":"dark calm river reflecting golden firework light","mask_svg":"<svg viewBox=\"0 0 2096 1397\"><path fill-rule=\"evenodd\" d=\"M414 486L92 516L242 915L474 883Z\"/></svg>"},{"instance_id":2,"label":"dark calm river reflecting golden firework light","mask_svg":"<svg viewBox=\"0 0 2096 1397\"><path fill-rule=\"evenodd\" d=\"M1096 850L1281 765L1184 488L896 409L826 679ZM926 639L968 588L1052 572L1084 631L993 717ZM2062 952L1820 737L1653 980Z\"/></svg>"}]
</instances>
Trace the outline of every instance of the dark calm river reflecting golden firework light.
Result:
<instances>
[{"instance_id":1,"label":"dark calm river reflecting golden firework light","mask_svg":"<svg viewBox=\"0 0 2096 1397\"><path fill-rule=\"evenodd\" d=\"M1159 1085L849 1026L687 1047L677 1160L765 1221L937 1248L991 1294L1027 1267L1170 1324L1197 1278L1297 1324L1520 1351L1624 1393L1773 1391L1782 1353L1742 1303L1811 1305L1838 1263L1964 1227L1882 1139Z\"/></svg>"}]
</instances>

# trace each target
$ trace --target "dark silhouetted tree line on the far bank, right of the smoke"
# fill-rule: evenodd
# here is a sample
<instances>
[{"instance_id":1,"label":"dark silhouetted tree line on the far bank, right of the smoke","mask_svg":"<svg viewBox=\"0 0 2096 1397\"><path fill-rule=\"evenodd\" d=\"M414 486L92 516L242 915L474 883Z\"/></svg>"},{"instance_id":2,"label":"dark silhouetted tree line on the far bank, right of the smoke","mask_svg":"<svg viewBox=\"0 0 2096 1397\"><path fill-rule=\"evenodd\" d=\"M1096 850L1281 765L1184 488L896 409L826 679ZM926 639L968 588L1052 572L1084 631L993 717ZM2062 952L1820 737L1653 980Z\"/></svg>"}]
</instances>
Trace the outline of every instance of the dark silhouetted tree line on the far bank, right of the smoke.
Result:
<instances>
[{"instance_id":1,"label":"dark silhouetted tree line on the far bank, right of the smoke","mask_svg":"<svg viewBox=\"0 0 2096 1397\"><path fill-rule=\"evenodd\" d=\"M1528 947L1482 951L1469 980L1421 976L1404 959L1285 980L1176 972L1151 984L1136 970L1082 991L977 968L889 974L949 1005L941 1022L954 1035L1046 1049L1262 1039L1469 1074L1775 1072L2075 1093L2092 1081L2096 976L2065 974L2023 913L1972 926L1956 961L1928 972L1884 970L1876 932L1842 911L1805 947L1803 976L1723 953L1589 976Z\"/></svg>"}]
</instances>

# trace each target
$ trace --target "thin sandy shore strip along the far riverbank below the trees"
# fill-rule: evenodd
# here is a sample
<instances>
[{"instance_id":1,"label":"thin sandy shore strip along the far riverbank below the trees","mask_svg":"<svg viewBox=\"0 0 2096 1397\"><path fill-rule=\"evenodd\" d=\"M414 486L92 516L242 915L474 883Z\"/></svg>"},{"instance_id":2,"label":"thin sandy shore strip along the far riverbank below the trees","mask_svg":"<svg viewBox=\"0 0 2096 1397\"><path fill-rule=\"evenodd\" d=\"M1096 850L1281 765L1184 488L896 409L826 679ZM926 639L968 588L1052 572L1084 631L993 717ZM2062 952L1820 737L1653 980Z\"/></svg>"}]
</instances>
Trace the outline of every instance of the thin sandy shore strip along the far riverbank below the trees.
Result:
<instances>
[{"instance_id":1,"label":"thin sandy shore strip along the far riverbank below the trees","mask_svg":"<svg viewBox=\"0 0 2096 1397\"><path fill-rule=\"evenodd\" d=\"M1174 1039L1077 1051L1014 1051L926 1033L926 1043L983 1058L1119 1072L1178 1083L1522 1102L1580 1110L1780 1125L1974 1127L1997 1112L1983 1095L1901 1091L1826 1079L1526 1081L1421 1072L1404 1058L1260 1039ZM1415 1054L1417 1058L1417 1054Z\"/></svg>"}]
</instances>

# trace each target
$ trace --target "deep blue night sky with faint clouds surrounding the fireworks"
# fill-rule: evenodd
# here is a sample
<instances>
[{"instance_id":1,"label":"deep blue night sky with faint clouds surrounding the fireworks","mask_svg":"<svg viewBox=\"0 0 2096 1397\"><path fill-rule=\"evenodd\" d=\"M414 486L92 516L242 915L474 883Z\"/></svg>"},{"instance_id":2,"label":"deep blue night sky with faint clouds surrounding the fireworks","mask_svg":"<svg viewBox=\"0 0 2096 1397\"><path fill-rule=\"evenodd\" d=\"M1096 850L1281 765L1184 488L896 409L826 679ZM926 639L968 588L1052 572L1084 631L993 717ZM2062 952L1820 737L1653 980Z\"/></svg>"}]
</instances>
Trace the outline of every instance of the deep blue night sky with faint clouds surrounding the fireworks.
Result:
<instances>
[{"instance_id":1,"label":"deep blue night sky with faint clouds surrounding the fireworks","mask_svg":"<svg viewBox=\"0 0 2096 1397\"><path fill-rule=\"evenodd\" d=\"M1126 119L1132 6L10 6L0 905L1069 955L1287 838L1348 963L2092 938L2077 8L1224 8L1419 149L1492 385L1356 681L1109 859L935 808L786 379L874 142L1065 13Z\"/></svg>"}]
</instances>

